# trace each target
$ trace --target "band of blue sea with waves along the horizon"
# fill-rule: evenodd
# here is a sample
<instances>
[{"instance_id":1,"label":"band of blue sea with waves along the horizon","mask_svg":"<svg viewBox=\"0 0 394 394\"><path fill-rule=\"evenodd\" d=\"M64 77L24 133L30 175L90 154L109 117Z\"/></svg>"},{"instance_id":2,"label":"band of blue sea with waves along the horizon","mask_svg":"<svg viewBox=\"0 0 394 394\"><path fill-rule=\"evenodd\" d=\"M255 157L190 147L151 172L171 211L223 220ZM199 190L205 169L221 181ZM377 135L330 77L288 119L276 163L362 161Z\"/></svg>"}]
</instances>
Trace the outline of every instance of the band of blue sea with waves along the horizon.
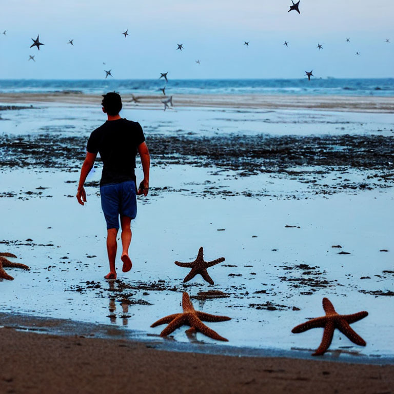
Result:
<instances>
[{"instance_id":1,"label":"band of blue sea with waves along the horizon","mask_svg":"<svg viewBox=\"0 0 394 394\"><path fill-rule=\"evenodd\" d=\"M49 93L76 91L102 94L156 94L166 85L155 80L0 80L0 93ZM167 94L294 94L394 96L394 78L297 80L171 80Z\"/></svg>"}]
</instances>

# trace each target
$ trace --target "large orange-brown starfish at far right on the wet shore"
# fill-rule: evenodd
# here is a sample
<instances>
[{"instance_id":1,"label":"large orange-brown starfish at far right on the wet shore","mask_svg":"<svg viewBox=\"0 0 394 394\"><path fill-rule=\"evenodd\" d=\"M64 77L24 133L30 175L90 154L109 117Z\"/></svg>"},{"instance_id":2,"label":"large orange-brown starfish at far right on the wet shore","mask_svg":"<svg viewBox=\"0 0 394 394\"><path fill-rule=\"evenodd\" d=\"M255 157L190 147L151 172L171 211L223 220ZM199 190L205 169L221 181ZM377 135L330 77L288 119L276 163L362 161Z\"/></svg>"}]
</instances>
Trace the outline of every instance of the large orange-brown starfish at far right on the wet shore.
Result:
<instances>
[{"instance_id":1,"label":"large orange-brown starfish at far right on the wet shore","mask_svg":"<svg viewBox=\"0 0 394 394\"><path fill-rule=\"evenodd\" d=\"M338 314L331 301L328 298L323 298L323 309L326 316L321 318L311 319L306 323L302 323L294 327L291 332L296 334L304 332L310 328L324 327L323 339L319 348L312 354L312 356L322 356L331 345L334 329L338 328L351 342L365 346L366 342L359 336L359 334L350 328L349 324L357 322L368 316L368 312L362 311L353 314Z\"/></svg>"}]
</instances>

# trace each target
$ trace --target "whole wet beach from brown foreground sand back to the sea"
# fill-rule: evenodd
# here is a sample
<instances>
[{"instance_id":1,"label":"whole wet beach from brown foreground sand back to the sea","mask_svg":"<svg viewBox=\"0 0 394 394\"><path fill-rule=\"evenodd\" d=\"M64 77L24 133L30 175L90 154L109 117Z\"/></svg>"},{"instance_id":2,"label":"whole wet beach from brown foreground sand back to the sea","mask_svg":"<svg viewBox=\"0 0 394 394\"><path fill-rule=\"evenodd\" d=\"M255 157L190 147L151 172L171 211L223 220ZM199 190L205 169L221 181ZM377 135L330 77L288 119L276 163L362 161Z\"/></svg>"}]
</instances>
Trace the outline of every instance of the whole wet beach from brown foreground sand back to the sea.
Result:
<instances>
[{"instance_id":1,"label":"whole wet beach from brown foreground sand back to the sea","mask_svg":"<svg viewBox=\"0 0 394 394\"><path fill-rule=\"evenodd\" d=\"M126 103L121 114L141 123L151 151L151 189L132 225L133 270L112 283L100 162L87 205L75 199L87 138L104 121L100 101L0 95L0 209L12 223L0 251L31 268L0 281L0 392L392 390L393 97L184 95L165 112L157 97ZM184 284L174 261L194 260L201 246L207 260L226 260L210 268L214 285ZM228 343L179 329L169 341L184 348L166 347L150 325L180 311L183 291L196 309L232 318L211 323ZM336 332L324 357L310 356L322 330L291 329L322 316L323 297L340 313L369 312L352 324L366 347ZM21 332L34 331L33 318L124 338L88 338L86 326ZM199 353L205 346L220 351Z\"/></svg>"}]
</instances>

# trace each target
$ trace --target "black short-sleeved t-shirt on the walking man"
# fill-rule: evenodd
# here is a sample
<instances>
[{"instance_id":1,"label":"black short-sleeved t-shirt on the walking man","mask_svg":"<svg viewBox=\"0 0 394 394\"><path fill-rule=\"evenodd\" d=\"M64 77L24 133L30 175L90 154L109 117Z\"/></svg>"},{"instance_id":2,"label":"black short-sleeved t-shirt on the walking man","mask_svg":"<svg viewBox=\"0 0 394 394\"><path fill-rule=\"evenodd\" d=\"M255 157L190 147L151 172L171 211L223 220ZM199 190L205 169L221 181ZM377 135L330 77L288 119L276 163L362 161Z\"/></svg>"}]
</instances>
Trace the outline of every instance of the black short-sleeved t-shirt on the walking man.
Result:
<instances>
[{"instance_id":1,"label":"black short-sleeved t-shirt on the walking man","mask_svg":"<svg viewBox=\"0 0 394 394\"><path fill-rule=\"evenodd\" d=\"M100 186L135 182L135 155L137 147L144 141L141 125L127 119L107 121L90 134L86 150L100 152L104 164Z\"/></svg>"}]
</instances>

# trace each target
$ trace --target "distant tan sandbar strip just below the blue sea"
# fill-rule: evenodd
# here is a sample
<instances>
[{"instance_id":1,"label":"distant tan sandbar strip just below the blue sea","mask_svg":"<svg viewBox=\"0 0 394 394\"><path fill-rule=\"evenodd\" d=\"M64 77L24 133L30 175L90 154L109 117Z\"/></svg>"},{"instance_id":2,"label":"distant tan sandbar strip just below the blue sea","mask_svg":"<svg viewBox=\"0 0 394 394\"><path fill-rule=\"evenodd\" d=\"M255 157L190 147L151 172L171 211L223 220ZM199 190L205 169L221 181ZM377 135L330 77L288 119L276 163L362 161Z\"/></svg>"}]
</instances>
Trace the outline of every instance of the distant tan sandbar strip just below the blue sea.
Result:
<instances>
[{"instance_id":1,"label":"distant tan sandbar strip just below the blue sea","mask_svg":"<svg viewBox=\"0 0 394 394\"><path fill-rule=\"evenodd\" d=\"M135 104L130 94L122 94L124 108L150 106L163 109L164 95L140 95ZM48 93L0 93L1 103L63 103L97 105L101 95L74 92ZM248 109L319 109L346 112L394 113L394 97L390 96L312 96L312 95L265 95L265 94L176 94L175 107L212 107Z\"/></svg>"}]
</instances>

